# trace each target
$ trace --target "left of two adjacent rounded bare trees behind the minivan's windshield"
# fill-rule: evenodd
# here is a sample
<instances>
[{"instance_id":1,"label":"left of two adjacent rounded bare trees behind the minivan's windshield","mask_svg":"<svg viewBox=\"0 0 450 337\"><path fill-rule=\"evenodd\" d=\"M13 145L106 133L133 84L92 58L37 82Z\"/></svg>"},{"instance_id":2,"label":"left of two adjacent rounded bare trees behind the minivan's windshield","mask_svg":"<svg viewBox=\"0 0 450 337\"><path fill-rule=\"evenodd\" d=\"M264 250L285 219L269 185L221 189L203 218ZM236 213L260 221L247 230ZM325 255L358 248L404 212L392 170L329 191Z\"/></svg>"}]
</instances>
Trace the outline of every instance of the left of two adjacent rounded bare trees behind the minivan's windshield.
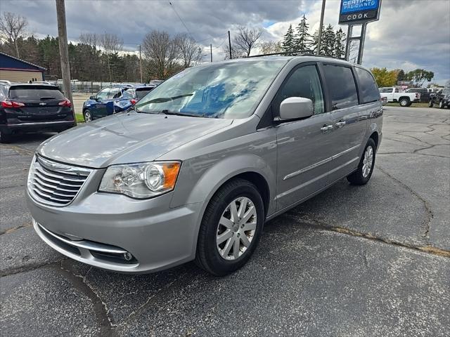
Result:
<instances>
[{"instance_id":1,"label":"left of two adjacent rounded bare trees behind the minivan's windshield","mask_svg":"<svg viewBox=\"0 0 450 337\"><path fill-rule=\"evenodd\" d=\"M153 75L158 79L166 79L177 68L178 48L169 33L153 30L146 34L142 42L143 54L148 59Z\"/></svg>"}]
</instances>

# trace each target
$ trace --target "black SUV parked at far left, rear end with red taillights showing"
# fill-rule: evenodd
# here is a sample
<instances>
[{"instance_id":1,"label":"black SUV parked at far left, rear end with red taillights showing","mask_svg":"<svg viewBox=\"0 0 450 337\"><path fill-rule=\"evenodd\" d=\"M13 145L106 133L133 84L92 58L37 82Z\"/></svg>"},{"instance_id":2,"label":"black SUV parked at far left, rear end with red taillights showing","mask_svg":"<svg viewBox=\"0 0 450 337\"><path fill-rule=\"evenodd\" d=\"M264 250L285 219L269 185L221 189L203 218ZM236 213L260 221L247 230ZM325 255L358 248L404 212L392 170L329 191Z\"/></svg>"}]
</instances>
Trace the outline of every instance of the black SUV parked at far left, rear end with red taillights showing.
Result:
<instances>
[{"instance_id":1,"label":"black SUV parked at far left, rear end with red taillights showing","mask_svg":"<svg viewBox=\"0 0 450 337\"><path fill-rule=\"evenodd\" d=\"M14 134L64 131L75 126L70 100L49 84L0 83L0 143Z\"/></svg>"}]
</instances>

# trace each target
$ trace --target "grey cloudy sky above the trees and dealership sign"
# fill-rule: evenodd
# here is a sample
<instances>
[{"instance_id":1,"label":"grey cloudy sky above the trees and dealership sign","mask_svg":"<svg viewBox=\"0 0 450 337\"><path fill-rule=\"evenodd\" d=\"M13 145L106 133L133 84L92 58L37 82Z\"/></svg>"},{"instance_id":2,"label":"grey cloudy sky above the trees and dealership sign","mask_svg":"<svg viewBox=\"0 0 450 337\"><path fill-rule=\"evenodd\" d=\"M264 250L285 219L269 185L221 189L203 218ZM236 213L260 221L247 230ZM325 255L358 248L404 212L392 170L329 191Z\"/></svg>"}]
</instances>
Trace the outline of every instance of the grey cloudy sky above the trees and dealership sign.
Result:
<instances>
[{"instance_id":1,"label":"grey cloudy sky above the trees and dealership sign","mask_svg":"<svg viewBox=\"0 0 450 337\"><path fill-rule=\"evenodd\" d=\"M305 14L311 33L319 27L321 0L65 0L68 39L82 32L115 33L135 51L151 29L186 32L204 46L209 60L222 60L227 31L239 25L263 27L266 40L282 39ZM340 0L326 0L326 24L338 25ZM0 0L0 11L27 17L38 36L58 34L53 0ZM176 15L179 13L181 20ZM343 26L345 29L346 26ZM380 20L368 25L363 65L435 72L435 82L450 79L450 1L383 0Z\"/></svg>"}]
</instances>

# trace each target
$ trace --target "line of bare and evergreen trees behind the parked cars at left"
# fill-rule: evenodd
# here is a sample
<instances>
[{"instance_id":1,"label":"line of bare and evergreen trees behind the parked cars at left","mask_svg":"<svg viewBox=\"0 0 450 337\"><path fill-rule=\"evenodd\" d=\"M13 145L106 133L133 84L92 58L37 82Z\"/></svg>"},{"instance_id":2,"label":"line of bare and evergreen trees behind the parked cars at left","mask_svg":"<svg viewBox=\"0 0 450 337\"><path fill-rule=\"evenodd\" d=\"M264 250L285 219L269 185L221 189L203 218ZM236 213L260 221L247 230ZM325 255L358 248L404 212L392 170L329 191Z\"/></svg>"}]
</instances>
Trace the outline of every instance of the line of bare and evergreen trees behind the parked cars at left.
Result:
<instances>
[{"instance_id":1,"label":"line of bare and evergreen trees behind the parked cars at left","mask_svg":"<svg viewBox=\"0 0 450 337\"><path fill-rule=\"evenodd\" d=\"M28 35L27 19L5 12L0 17L0 51L45 67L46 79L60 79L58 37L43 39ZM79 42L68 44L70 73L79 81L139 82L139 56L124 51L123 40L116 34L82 33ZM166 79L201 59L200 46L188 36L154 30L142 44L143 81Z\"/></svg>"}]
</instances>

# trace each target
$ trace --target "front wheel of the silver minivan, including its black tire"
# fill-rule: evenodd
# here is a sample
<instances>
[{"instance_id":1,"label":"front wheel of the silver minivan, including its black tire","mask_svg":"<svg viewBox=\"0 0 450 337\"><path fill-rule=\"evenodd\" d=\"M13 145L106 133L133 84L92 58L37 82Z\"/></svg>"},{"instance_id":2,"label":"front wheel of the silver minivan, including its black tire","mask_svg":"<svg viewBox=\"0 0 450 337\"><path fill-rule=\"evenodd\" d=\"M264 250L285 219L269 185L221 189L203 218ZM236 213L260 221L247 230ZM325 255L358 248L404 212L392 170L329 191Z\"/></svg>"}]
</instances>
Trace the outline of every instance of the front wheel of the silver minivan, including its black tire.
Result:
<instances>
[{"instance_id":1,"label":"front wheel of the silver minivan, including its black tire","mask_svg":"<svg viewBox=\"0 0 450 337\"><path fill-rule=\"evenodd\" d=\"M232 203L236 206L235 214L240 213L240 201L245 201L243 214L251 214L245 224L233 223L231 215ZM253 211L250 211L251 206L254 206ZM255 185L240 178L226 183L214 194L205 209L198 233L195 263L216 276L228 275L238 270L255 251L264 226L264 218L264 204ZM245 230L246 227L248 230ZM219 243L217 239L220 239L221 235L222 242ZM236 242L239 249L235 250Z\"/></svg>"}]
</instances>

